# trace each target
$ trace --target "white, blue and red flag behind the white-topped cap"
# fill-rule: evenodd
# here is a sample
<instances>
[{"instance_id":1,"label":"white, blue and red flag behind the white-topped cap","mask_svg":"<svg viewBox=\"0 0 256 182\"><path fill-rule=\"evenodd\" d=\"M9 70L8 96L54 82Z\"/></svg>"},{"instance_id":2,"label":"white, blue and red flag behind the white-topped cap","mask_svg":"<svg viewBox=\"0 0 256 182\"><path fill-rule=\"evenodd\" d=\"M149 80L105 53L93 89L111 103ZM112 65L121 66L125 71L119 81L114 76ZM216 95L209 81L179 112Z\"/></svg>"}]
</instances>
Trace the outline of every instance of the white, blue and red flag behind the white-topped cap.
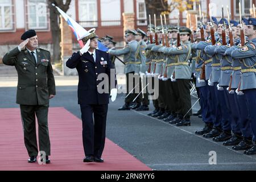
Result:
<instances>
[{"instance_id":1,"label":"white, blue and red flag behind the white-topped cap","mask_svg":"<svg viewBox=\"0 0 256 182\"><path fill-rule=\"evenodd\" d=\"M63 18L65 19L65 21L68 23L68 26L71 28L71 30L73 31L73 33L76 36L77 41L79 42L80 47L84 47L84 44L82 43L82 40L79 40L81 38L81 36L85 35L85 34L89 34L89 31L86 31L80 24L78 24L75 20L73 20L70 16L68 16L66 13L64 13L63 10L61 10L59 7L55 6L52 3L52 6L56 7L56 9L59 11L59 13L61 14L61 16L63 16ZM95 28L93 28L95 30ZM93 30L91 29L91 30ZM105 47L101 42L98 41L98 49L100 49L101 51L108 51L108 48Z\"/></svg>"}]
</instances>

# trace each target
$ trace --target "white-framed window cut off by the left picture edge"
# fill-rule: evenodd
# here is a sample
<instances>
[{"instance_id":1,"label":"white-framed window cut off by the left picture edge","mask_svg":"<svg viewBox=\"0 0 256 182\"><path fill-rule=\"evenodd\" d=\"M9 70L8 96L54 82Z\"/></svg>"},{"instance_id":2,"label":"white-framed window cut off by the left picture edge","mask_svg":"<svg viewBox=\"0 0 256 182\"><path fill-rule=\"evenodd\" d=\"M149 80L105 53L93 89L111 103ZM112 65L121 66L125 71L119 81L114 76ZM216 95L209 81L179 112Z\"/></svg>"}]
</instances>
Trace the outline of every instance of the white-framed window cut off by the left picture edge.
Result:
<instances>
[{"instance_id":1,"label":"white-framed window cut off by the left picture edge","mask_svg":"<svg viewBox=\"0 0 256 182\"><path fill-rule=\"evenodd\" d=\"M14 30L12 0L0 2L0 30Z\"/></svg>"}]
</instances>

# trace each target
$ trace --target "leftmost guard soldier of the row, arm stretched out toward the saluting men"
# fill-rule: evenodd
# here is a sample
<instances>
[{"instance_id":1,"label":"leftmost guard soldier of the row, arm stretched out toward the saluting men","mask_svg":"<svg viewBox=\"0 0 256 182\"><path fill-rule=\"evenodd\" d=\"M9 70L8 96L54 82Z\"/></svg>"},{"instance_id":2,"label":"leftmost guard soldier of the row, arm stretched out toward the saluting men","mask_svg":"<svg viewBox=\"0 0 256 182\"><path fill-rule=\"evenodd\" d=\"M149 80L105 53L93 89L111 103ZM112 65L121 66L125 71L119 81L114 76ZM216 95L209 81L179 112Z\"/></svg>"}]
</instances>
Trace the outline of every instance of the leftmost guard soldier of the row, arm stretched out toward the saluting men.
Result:
<instances>
[{"instance_id":1,"label":"leftmost guard soldier of the row, arm stretched out toward the saluting men","mask_svg":"<svg viewBox=\"0 0 256 182\"><path fill-rule=\"evenodd\" d=\"M128 44L121 50L109 50L110 55L123 55L123 62L125 62L125 74L126 74L126 90L127 90L127 96L125 98L125 105L122 107L119 107L118 110L130 110L130 105L133 102L135 98L134 90L130 93L131 89L129 90L129 85L131 88L135 88L135 81L129 80L129 74L131 76L134 75L138 64L141 64L141 62L136 61L135 53L137 51L138 43L135 40L135 35L137 32L135 30L127 30L125 39ZM135 89L137 90L137 89ZM130 93L130 94L129 94Z\"/></svg>"}]
</instances>

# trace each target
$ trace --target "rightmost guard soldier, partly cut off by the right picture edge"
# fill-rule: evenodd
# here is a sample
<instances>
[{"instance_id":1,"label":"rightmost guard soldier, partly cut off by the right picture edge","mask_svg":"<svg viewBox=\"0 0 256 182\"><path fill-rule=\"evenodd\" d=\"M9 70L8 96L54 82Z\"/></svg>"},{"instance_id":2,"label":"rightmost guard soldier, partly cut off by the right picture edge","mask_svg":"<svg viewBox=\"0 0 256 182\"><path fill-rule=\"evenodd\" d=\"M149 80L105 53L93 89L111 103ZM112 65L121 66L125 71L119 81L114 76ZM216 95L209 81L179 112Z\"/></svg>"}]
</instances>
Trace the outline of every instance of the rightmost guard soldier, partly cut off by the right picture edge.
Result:
<instances>
[{"instance_id":1,"label":"rightmost guard soldier, partly cut off by the right picture edge","mask_svg":"<svg viewBox=\"0 0 256 182\"><path fill-rule=\"evenodd\" d=\"M234 49L231 56L242 60L241 66L241 85L238 86L237 93L245 94L247 109L251 119L251 129L253 131L253 140L256 141L256 19L249 18L245 35L249 42L242 48ZM256 145L245 151L247 155L256 154Z\"/></svg>"}]
</instances>

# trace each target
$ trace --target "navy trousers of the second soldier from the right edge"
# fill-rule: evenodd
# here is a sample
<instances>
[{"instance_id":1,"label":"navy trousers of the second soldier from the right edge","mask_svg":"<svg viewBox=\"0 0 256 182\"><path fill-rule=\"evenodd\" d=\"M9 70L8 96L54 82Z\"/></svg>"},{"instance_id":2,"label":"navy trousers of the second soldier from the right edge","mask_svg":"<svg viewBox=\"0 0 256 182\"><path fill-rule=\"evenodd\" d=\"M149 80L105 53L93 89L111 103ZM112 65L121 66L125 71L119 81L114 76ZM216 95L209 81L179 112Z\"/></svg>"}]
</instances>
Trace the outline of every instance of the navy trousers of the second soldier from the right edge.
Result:
<instances>
[{"instance_id":1,"label":"navy trousers of the second soldier from the right edge","mask_svg":"<svg viewBox=\"0 0 256 182\"><path fill-rule=\"evenodd\" d=\"M238 107L239 123L242 135L243 137L250 138L252 137L253 131L251 131L251 121L246 105L245 95L238 96L236 93L234 93L234 102Z\"/></svg>"}]
</instances>

